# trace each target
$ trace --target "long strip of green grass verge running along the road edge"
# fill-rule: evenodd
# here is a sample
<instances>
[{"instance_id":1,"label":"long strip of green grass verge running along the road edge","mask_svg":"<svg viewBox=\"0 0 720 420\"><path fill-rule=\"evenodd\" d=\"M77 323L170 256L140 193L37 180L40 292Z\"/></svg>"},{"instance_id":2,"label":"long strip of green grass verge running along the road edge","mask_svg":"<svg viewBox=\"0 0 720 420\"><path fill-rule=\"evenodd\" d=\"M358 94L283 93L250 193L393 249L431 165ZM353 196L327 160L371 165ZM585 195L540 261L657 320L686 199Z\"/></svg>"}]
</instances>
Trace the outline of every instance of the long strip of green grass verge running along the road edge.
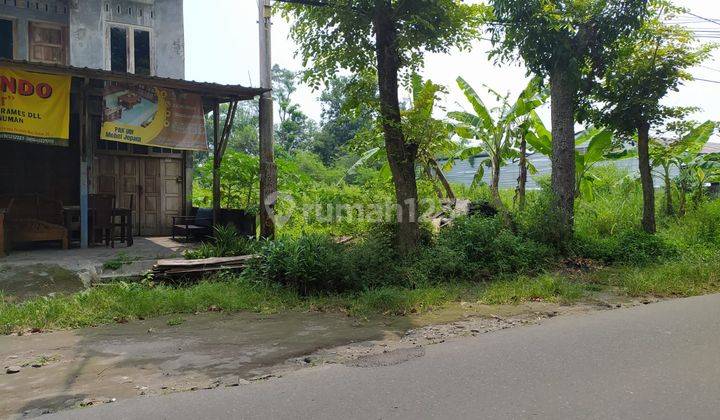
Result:
<instances>
[{"instance_id":1,"label":"long strip of green grass verge running along the road edge","mask_svg":"<svg viewBox=\"0 0 720 420\"><path fill-rule=\"evenodd\" d=\"M8 303L0 295L0 334L80 328L162 315L198 312L274 313L287 310L337 311L352 316L402 316L441 308L451 302L488 305L543 301L572 304L592 291L612 288L631 297L686 297L720 292L720 263L671 261L642 268L603 269L583 282L559 274L519 276L486 283L387 286L359 292L301 296L293 289L221 275L192 286L116 283L53 298ZM179 325L175 316L168 325Z\"/></svg>"}]
</instances>

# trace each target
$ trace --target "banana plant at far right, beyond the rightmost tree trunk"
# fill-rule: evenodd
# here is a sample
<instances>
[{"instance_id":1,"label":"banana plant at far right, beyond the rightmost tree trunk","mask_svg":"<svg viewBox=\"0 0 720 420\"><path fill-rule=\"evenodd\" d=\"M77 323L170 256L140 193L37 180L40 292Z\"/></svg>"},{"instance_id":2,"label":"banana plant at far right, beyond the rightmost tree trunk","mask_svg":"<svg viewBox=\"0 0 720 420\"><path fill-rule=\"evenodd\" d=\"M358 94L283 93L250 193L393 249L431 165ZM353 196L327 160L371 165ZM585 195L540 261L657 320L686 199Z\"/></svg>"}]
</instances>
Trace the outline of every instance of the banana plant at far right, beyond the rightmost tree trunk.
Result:
<instances>
[{"instance_id":1,"label":"banana plant at far right, beyond the rightmost tree trunk","mask_svg":"<svg viewBox=\"0 0 720 420\"><path fill-rule=\"evenodd\" d=\"M672 194L673 183L670 178L671 169L691 164L712 137L716 126L715 122L707 121L693 127L690 132L676 142L667 143L653 140L650 143L650 163L655 173L662 176L665 183L665 212L667 214L672 215L675 213ZM684 184L680 183L680 185ZM684 201L684 197L680 199Z\"/></svg>"}]
</instances>

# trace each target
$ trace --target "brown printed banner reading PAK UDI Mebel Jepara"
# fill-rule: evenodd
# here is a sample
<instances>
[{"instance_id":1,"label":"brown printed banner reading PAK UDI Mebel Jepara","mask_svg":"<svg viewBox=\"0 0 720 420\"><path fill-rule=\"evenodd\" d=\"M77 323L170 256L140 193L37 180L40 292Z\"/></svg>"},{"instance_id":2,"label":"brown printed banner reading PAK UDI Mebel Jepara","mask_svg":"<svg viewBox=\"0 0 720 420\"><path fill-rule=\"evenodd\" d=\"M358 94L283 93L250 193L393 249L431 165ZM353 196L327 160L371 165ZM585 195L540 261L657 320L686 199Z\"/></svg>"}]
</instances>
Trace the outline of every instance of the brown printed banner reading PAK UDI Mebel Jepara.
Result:
<instances>
[{"instance_id":1,"label":"brown printed banner reading PAK UDI Mebel Jepara","mask_svg":"<svg viewBox=\"0 0 720 420\"><path fill-rule=\"evenodd\" d=\"M172 89L108 82L103 94L100 138L207 151L202 97Z\"/></svg>"}]
</instances>

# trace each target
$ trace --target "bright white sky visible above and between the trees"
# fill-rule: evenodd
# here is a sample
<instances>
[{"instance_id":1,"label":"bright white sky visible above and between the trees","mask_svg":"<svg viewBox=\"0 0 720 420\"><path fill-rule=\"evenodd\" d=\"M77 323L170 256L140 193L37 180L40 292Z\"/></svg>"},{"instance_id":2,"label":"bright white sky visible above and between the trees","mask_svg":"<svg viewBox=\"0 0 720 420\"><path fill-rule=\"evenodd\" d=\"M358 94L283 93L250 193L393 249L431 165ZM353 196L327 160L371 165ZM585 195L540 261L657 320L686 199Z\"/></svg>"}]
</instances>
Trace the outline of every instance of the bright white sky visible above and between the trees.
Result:
<instances>
[{"instance_id":1,"label":"bright white sky visible above and between the trees","mask_svg":"<svg viewBox=\"0 0 720 420\"><path fill-rule=\"evenodd\" d=\"M186 78L196 81L258 86L258 34L257 0L185 0ZM683 17L695 30L720 30L720 2L716 0L676 0L676 4L691 13L717 23L696 17ZM273 19L272 59L274 64L293 71L303 69L301 57L295 56L295 45L289 36L290 24L276 16ZM493 97L484 92L483 84L501 93L516 96L529 80L522 65L494 64L488 58L490 44L478 41L469 52L452 51L449 54L428 54L423 77L444 85L448 94L444 106L448 111L468 108L457 88L458 76L465 78L483 96L488 104ZM693 81L671 93L667 105L696 106L702 111L695 119L720 120L720 51L703 64L692 69L696 78L718 81ZM300 86L293 100L303 112L314 119L322 111L317 97L320 92ZM407 93L403 93L407 97ZM547 106L546 106L547 108ZM541 112L548 120L547 109ZM716 139L720 140L720 139Z\"/></svg>"}]
</instances>

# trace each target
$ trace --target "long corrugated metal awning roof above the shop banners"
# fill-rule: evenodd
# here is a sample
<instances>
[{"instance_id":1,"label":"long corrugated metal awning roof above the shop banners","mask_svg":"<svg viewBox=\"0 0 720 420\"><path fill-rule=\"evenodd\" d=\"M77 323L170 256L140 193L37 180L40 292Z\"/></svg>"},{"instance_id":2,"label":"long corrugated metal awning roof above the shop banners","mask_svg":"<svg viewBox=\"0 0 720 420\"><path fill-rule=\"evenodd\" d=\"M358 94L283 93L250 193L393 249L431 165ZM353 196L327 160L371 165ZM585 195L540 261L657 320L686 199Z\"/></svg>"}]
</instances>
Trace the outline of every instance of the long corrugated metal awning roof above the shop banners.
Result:
<instances>
[{"instance_id":1,"label":"long corrugated metal awning roof above the shop banners","mask_svg":"<svg viewBox=\"0 0 720 420\"><path fill-rule=\"evenodd\" d=\"M198 93L206 97L219 100L250 100L267 92L269 89L252 88L242 85L222 85L218 83L194 82L182 79L171 79L158 76L141 76L130 73L119 73L88 67L61 66L57 64L33 63L26 60L0 59L0 66L12 66L22 70L39 73L67 74L75 77L87 77L90 79L109 80L115 82L126 82L133 84L145 84L164 87L167 89L179 89L187 92Z\"/></svg>"}]
</instances>

